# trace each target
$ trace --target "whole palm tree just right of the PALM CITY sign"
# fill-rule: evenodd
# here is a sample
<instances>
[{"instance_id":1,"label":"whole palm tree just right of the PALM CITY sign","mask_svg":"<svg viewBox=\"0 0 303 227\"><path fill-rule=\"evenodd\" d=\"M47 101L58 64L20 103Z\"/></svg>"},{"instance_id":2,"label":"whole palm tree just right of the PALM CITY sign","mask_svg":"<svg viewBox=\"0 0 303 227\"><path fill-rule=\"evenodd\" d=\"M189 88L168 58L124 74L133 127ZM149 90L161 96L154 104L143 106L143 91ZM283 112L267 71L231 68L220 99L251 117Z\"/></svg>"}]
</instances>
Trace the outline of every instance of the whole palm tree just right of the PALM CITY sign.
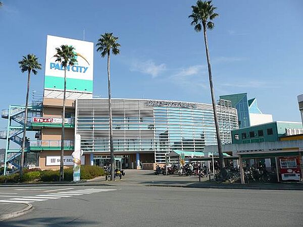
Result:
<instances>
[{"instance_id":1,"label":"whole palm tree just right of the PALM CITY sign","mask_svg":"<svg viewBox=\"0 0 303 227\"><path fill-rule=\"evenodd\" d=\"M109 112L110 112L110 149L111 149L111 181L115 173L115 159L114 159L114 142L113 142L113 122L112 122L112 103L111 103L111 74L110 74L110 52L114 55L120 53L118 37L113 36L113 33L104 33L100 35L96 44L97 51L101 52L102 58L106 55L108 57L108 86L109 86Z\"/></svg>"}]
</instances>

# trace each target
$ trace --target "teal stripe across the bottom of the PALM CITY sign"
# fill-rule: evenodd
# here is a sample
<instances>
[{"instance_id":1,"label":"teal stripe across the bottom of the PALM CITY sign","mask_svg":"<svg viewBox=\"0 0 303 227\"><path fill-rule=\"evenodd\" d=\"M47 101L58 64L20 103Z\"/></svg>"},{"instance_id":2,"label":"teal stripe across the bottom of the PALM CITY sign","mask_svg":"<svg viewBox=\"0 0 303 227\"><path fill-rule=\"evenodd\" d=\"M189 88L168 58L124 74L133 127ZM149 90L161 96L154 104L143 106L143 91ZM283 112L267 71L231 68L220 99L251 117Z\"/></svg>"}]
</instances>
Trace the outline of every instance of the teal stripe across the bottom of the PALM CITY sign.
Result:
<instances>
[{"instance_id":1,"label":"teal stripe across the bottom of the PALM CITY sign","mask_svg":"<svg viewBox=\"0 0 303 227\"><path fill-rule=\"evenodd\" d=\"M44 88L64 89L64 78L45 76ZM92 92L92 80L66 78L66 89Z\"/></svg>"}]
</instances>

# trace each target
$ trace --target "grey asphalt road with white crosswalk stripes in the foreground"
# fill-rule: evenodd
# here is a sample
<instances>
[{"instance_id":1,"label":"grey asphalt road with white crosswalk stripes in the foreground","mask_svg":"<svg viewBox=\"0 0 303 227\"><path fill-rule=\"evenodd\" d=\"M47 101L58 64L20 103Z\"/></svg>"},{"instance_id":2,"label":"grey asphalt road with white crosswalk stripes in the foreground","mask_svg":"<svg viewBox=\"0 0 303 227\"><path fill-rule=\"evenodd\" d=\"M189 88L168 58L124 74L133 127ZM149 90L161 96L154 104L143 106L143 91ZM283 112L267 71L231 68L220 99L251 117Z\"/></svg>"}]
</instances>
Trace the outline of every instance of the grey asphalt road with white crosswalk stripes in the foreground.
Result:
<instances>
[{"instance_id":1,"label":"grey asphalt road with white crosswalk stripes in the foreground","mask_svg":"<svg viewBox=\"0 0 303 227\"><path fill-rule=\"evenodd\" d=\"M34 209L0 225L302 226L303 223L301 191L146 187L149 180L159 181L165 176L139 173L127 172L122 181L110 182L113 186L2 187L0 206L10 203L8 200L26 200Z\"/></svg>"}]
</instances>

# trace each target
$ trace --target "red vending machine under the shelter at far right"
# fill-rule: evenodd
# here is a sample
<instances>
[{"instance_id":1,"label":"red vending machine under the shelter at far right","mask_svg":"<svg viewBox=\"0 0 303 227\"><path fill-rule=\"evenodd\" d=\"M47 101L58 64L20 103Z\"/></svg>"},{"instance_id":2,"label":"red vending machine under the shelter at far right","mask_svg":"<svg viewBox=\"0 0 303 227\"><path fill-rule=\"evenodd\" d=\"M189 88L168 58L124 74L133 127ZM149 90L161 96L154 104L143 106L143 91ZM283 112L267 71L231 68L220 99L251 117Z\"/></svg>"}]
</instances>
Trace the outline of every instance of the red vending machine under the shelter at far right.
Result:
<instances>
[{"instance_id":1,"label":"red vending machine under the shelter at far right","mask_svg":"<svg viewBox=\"0 0 303 227\"><path fill-rule=\"evenodd\" d=\"M300 180L299 157L279 157L282 181Z\"/></svg>"}]
</instances>

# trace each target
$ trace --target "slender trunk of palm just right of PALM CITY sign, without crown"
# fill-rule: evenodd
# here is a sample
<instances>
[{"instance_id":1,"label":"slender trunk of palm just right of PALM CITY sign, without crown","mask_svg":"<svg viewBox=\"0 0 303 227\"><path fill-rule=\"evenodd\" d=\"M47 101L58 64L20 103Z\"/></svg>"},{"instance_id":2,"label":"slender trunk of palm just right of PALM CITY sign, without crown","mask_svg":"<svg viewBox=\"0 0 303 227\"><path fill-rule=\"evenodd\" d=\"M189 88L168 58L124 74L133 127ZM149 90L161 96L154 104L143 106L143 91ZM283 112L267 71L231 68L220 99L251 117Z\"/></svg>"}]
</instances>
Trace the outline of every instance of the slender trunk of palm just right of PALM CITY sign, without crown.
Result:
<instances>
[{"instance_id":1,"label":"slender trunk of palm just right of PALM CITY sign, without crown","mask_svg":"<svg viewBox=\"0 0 303 227\"><path fill-rule=\"evenodd\" d=\"M115 174L114 142L113 142L113 120L111 102L111 73L110 73L110 52L108 52L108 85L109 85L109 113L110 113L110 149L111 149L111 181Z\"/></svg>"}]
</instances>

